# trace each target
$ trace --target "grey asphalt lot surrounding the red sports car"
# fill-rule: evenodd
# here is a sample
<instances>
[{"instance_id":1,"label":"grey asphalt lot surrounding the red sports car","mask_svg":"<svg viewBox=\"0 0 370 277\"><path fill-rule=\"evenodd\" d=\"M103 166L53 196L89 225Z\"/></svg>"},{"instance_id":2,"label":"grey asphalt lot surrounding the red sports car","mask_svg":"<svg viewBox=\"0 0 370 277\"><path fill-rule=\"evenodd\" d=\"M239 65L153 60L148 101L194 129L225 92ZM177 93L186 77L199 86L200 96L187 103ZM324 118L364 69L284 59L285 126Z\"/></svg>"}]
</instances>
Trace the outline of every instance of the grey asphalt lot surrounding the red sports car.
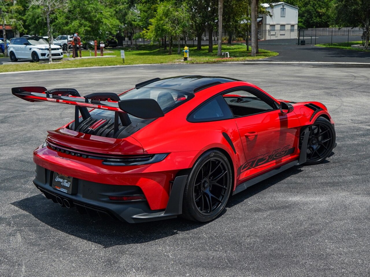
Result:
<instances>
[{"instance_id":1,"label":"grey asphalt lot surrounding the red sports car","mask_svg":"<svg viewBox=\"0 0 370 277\"><path fill-rule=\"evenodd\" d=\"M61 208L32 180L32 151L73 108L29 103L14 86L120 93L146 79L201 74L276 98L323 102L337 147L232 196L206 224L130 225ZM0 276L370 276L370 68L174 64L0 74ZM196 139L196 138L195 138Z\"/></svg>"}]
</instances>

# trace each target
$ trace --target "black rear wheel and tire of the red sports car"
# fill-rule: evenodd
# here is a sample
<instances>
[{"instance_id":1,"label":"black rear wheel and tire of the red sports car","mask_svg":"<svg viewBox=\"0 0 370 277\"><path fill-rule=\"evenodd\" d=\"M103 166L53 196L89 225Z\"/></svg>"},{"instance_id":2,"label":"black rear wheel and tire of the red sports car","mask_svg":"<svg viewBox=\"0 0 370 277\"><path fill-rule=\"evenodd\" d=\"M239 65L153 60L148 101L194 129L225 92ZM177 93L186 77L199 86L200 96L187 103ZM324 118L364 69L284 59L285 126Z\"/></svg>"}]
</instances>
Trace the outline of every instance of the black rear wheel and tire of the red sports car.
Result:
<instances>
[{"instance_id":1,"label":"black rear wheel and tire of the red sports car","mask_svg":"<svg viewBox=\"0 0 370 277\"><path fill-rule=\"evenodd\" d=\"M218 150L206 151L195 162L189 174L182 216L207 222L225 208L232 187L232 171L228 159Z\"/></svg>"}]
</instances>

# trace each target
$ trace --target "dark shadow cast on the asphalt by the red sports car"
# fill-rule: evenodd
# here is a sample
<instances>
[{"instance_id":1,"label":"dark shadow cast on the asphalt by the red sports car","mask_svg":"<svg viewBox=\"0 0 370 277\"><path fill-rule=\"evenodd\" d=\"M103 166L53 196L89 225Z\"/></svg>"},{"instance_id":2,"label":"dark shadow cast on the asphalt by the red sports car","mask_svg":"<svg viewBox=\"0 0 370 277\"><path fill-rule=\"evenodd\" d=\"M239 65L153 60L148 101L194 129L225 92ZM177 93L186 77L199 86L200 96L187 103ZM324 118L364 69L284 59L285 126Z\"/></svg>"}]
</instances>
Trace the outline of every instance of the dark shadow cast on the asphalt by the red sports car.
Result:
<instances>
[{"instance_id":1,"label":"dark shadow cast on the asphalt by the red sports car","mask_svg":"<svg viewBox=\"0 0 370 277\"><path fill-rule=\"evenodd\" d=\"M231 196L226 208L231 208L301 171L299 167L295 167L253 185L245 191ZM47 199L43 194L21 199L11 203L11 205L30 213L51 228L90 242L98 243L104 247L145 243L173 236L178 232L200 228L208 224L192 222L182 218L135 224L124 223L118 220L90 218L87 215L79 214L75 208L62 208ZM227 213L227 209L223 210L220 216L224 213Z\"/></svg>"}]
</instances>

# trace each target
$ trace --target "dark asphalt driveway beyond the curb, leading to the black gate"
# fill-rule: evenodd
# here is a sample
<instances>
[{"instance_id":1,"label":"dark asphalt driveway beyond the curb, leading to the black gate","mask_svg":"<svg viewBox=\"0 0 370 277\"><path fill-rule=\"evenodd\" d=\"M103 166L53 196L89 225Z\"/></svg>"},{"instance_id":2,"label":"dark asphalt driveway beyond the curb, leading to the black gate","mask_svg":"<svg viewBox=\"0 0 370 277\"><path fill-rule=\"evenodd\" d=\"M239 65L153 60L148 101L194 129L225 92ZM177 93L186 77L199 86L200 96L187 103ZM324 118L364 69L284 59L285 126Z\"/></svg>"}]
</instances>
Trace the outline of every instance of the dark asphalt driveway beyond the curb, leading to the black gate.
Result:
<instances>
[{"instance_id":1,"label":"dark asphalt driveway beyond the curb, leading to the black gate","mask_svg":"<svg viewBox=\"0 0 370 277\"><path fill-rule=\"evenodd\" d=\"M263 59L263 61L370 63L370 52L364 51L318 47L313 45L260 45L259 48L279 53L278 56L266 58Z\"/></svg>"}]
</instances>

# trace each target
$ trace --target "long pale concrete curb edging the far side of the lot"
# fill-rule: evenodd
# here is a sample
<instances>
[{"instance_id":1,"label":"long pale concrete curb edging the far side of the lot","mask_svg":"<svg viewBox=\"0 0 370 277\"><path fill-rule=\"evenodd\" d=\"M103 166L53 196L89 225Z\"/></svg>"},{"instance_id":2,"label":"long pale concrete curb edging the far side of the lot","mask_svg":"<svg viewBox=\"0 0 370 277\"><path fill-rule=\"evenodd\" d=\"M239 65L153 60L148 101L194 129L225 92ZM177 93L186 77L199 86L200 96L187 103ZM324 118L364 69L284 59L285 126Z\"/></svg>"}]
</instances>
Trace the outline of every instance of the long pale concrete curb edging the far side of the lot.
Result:
<instances>
[{"instance_id":1,"label":"long pale concrete curb edging the far side of the lot","mask_svg":"<svg viewBox=\"0 0 370 277\"><path fill-rule=\"evenodd\" d=\"M104 56L103 56L104 57ZM12 72L1 72L2 74L14 74L14 73L26 73L26 72L47 72L55 70L81 70L85 68L118 68L118 67L128 67L128 66L148 66L148 65L175 65L183 63L173 63L173 64L135 64L135 65L108 65L108 66L89 66L89 67L74 67L74 68L58 68L58 69L42 69L42 70L28 70L28 71L12 71ZM206 63L197 63L206 64ZM219 62L219 63L209 63L209 64L308 64L308 65L355 65L362 67L370 67L370 63L366 62L280 62L280 61L241 61L241 62ZM183 65L193 65L193 64L183 64Z\"/></svg>"}]
</instances>

